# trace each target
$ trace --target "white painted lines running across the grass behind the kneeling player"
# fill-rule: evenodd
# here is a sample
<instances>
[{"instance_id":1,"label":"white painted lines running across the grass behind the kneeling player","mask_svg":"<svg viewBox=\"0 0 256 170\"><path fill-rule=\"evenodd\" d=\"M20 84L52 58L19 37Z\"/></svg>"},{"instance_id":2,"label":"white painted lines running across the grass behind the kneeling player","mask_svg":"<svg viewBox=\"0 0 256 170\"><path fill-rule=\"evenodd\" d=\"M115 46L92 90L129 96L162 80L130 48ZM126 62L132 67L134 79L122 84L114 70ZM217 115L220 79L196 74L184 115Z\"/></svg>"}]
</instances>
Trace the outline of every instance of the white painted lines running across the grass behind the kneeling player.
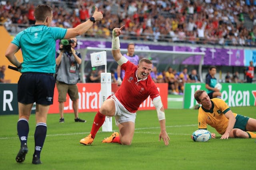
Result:
<instances>
[{"instance_id":1,"label":"white painted lines running across the grass behind the kneeling player","mask_svg":"<svg viewBox=\"0 0 256 170\"><path fill-rule=\"evenodd\" d=\"M167 127L191 127L191 126L197 126L197 124L194 125L173 125L173 126L166 126ZM142 127L142 128L136 128L135 133L147 133L147 134L158 134L155 132L136 132L137 130L144 130L144 129L160 129L160 127ZM118 129L113 130L118 131ZM54 137L54 136L69 136L69 135L83 135L83 134L89 134L90 132L79 132L79 133L62 133L62 134L52 134L52 135L46 135L46 137ZM98 133L102 133L102 131L98 131ZM191 134L181 134L181 133L168 133L168 135L191 135ZM34 137L34 136L29 136ZM0 137L0 140L5 139L16 139L17 137Z\"/></svg>"}]
</instances>

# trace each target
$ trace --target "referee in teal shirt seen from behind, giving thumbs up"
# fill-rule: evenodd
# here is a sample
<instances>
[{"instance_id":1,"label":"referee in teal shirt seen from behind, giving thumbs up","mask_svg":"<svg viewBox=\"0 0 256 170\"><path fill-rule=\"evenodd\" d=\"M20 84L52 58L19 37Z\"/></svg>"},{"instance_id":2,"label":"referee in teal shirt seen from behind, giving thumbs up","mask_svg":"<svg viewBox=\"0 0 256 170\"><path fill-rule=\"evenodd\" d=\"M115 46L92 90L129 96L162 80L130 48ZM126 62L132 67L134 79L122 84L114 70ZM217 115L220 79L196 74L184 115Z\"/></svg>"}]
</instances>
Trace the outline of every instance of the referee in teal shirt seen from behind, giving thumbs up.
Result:
<instances>
[{"instance_id":1,"label":"referee in teal shirt seen from behind, giving thumbs up","mask_svg":"<svg viewBox=\"0 0 256 170\"><path fill-rule=\"evenodd\" d=\"M102 20L103 15L95 11L90 20L75 28L64 29L50 27L52 8L48 5L38 5L34 11L35 25L18 33L6 50L5 56L22 74L18 81L19 119L17 131L20 139L20 150L16 156L17 162L24 162L28 152L28 120L33 103L36 102L36 130L34 133L35 147L33 164L41 164L40 152L46 137L46 118L53 102L55 79L55 47L57 39L69 39L84 34L95 21ZM23 63L15 57L22 49Z\"/></svg>"}]
</instances>

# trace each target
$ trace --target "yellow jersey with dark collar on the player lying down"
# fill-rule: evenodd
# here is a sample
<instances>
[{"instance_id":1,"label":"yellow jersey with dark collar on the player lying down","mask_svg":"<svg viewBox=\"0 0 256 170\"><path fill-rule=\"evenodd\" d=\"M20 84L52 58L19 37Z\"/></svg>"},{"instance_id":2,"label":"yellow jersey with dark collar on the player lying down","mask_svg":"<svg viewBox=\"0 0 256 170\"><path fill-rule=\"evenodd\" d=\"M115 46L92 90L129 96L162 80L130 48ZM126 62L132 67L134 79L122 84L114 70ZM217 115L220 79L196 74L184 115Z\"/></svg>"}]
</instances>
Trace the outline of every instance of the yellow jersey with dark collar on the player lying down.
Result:
<instances>
[{"instance_id":1,"label":"yellow jersey with dark collar on the player lying down","mask_svg":"<svg viewBox=\"0 0 256 170\"><path fill-rule=\"evenodd\" d=\"M223 135L228 127L228 118L224 115L230 110L224 100L219 98L211 99L212 108L210 110L200 107L198 111L198 129L207 129L207 125L215 128ZM233 113L236 117L236 113Z\"/></svg>"}]
</instances>

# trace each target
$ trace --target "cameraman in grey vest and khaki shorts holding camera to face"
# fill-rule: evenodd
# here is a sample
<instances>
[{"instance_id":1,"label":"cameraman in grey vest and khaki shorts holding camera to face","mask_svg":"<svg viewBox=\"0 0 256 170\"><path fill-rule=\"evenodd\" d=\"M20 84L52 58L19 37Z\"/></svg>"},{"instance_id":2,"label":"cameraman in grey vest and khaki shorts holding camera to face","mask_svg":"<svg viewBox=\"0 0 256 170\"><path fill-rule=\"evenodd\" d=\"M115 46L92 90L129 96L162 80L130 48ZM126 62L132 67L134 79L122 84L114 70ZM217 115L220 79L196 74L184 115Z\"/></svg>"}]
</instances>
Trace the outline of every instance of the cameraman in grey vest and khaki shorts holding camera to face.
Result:
<instances>
[{"instance_id":1,"label":"cameraman in grey vest and khaki shorts holding camera to face","mask_svg":"<svg viewBox=\"0 0 256 170\"><path fill-rule=\"evenodd\" d=\"M81 55L75 51L77 39L62 39L60 48L56 52L56 86L58 89L58 102L60 111L60 123L64 123L64 102L68 93L72 100L72 107L75 113L75 122L86 122L78 117L78 87L79 65L82 63Z\"/></svg>"}]
</instances>

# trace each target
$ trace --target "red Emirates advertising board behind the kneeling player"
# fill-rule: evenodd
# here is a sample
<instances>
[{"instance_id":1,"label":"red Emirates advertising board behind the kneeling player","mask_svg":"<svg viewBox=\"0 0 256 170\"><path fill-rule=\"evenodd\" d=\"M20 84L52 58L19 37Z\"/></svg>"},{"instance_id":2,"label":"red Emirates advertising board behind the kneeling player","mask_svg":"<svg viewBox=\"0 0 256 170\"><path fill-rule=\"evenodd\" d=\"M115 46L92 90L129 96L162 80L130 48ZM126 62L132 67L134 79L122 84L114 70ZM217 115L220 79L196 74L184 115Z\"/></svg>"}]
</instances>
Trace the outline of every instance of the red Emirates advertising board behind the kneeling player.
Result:
<instances>
[{"instance_id":1,"label":"red Emirates advertising board behind the kneeling player","mask_svg":"<svg viewBox=\"0 0 256 170\"><path fill-rule=\"evenodd\" d=\"M78 83L78 109L79 112L93 112L98 111L100 108L100 83ZM167 83L157 83L156 86L160 92L164 108L167 108L167 97L168 97L168 84ZM119 86L117 84L112 84L112 94L118 90ZM152 110L155 109L150 97L148 97L141 105L139 110ZM66 102L64 103L64 113L73 113L72 101L69 96L66 97ZM59 113L58 107L58 90L54 89L54 100L53 105L50 106L48 113Z\"/></svg>"}]
</instances>

